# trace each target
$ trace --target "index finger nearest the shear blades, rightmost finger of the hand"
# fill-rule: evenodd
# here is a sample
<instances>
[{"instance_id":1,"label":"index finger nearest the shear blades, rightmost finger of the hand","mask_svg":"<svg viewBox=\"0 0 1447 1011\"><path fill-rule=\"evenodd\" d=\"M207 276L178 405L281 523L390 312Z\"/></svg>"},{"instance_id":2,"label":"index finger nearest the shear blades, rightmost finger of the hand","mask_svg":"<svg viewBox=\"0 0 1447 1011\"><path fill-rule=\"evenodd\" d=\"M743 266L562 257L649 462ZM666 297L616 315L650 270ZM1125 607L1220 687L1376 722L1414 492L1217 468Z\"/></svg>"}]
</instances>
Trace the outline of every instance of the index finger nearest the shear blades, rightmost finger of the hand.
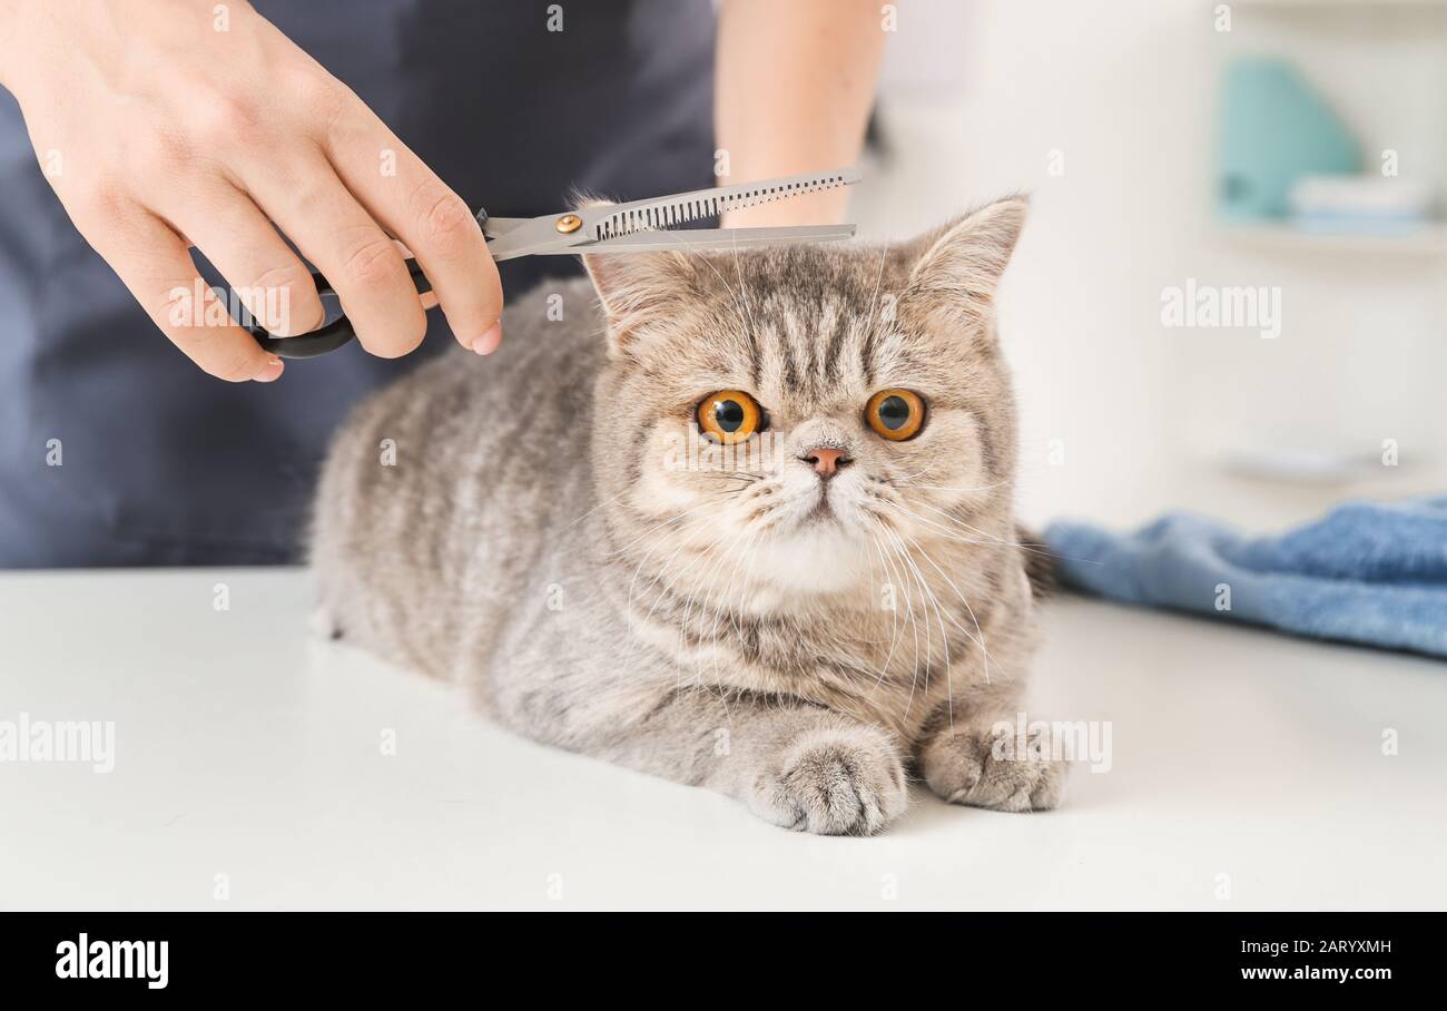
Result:
<instances>
[{"instance_id":1,"label":"index finger nearest the shear blades, rightmost finger of the hand","mask_svg":"<svg viewBox=\"0 0 1447 1011\"><path fill-rule=\"evenodd\" d=\"M502 285L466 201L360 104L337 117L324 143L347 188L417 256L457 340L493 351Z\"/></svg>"}]
</instances>

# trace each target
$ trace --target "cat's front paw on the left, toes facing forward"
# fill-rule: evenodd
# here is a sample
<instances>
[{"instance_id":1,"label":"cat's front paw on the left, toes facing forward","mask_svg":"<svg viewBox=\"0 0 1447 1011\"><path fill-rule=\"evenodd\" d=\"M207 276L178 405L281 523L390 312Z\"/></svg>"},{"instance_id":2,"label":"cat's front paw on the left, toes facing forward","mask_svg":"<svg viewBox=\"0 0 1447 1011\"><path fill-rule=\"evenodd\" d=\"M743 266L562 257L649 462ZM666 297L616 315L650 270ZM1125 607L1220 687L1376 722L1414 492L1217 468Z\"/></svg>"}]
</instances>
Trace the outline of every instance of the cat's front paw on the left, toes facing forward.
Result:
<instances>
[{"instance_id":1,"label":"cat's front paw on the left, toes facing forward","mask_svg":"<svg viewBox=\"0 0 1447 1011\"><path fill-rule=\"evenodd\" d=\"M874 727L825 727L796 737L754 784L750 807L796 831L870 836L904 813L904 762Z\"/></svg>"}]
</instances>

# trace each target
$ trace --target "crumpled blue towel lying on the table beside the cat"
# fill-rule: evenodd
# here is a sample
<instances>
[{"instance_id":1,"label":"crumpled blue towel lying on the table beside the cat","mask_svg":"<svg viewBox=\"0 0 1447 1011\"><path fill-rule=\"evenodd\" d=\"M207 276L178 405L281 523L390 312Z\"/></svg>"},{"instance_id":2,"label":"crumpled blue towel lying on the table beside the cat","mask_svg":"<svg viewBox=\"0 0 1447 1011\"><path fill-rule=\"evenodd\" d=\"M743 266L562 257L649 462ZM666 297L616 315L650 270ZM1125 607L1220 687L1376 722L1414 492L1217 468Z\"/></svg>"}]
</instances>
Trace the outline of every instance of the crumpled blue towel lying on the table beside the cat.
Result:
<instances>
[{"instance_id":1,"label":"crumpled blue towel lying on the table beside the cat","mask_svg":"<svg viewBox=\"0 0 1447 1011\"><path fill-rule=\"evenodd\" d=\"M1447 656L1447 498L1346 503L1268 537L1171 513L1132 534L1059 521L1045 540L1064 582L1114 600Z\"/></svg>"}]
</instances>

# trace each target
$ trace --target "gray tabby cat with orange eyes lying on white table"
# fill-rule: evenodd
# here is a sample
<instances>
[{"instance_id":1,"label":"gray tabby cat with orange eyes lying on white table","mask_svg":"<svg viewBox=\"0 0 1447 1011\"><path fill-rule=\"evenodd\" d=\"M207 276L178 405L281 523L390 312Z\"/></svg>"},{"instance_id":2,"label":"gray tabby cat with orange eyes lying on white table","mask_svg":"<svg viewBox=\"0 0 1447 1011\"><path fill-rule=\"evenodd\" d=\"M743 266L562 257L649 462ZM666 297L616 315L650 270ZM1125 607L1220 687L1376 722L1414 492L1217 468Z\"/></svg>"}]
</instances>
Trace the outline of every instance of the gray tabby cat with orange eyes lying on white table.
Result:
<instances>
[{"instance_id":1,"label":"gray tabby cat with orange eyes lying on white table","mask_svg":"<svg viewBox=\"0 0 1447 1011\"><path fill-rule=\"evenodd\" d=\"M789 828L873 833L910 773L1053 807L1064 763L993 731L1035 629L991 307L1024 213L543 285L492 359L444 355L337 437L334 633Z\"/></svg>"}]
</instances>

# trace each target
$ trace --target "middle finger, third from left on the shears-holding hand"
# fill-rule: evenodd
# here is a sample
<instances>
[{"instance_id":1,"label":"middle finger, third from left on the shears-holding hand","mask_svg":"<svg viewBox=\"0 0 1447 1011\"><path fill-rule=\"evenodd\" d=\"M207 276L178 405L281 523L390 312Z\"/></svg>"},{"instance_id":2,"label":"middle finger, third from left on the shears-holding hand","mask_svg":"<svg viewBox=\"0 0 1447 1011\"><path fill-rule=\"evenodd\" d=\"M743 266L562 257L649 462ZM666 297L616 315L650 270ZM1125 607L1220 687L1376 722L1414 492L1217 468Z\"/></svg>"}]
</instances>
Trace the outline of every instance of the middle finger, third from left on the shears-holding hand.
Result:
<instances>
[{"instance_id":1,"label":"middle finger, third from left on the shears-holding hand","mask_svg":"<svg viewBox=\"0 0 1447 1011\"><path fill-rule=\"evenodd\" d=\"M302 255L326 274L357 340L373 355L396 358L427 333L417 287L391 236L347 193L331 165L308 156L285 178L243 178L256 204Z\"/></svg>"}]
</instances>

